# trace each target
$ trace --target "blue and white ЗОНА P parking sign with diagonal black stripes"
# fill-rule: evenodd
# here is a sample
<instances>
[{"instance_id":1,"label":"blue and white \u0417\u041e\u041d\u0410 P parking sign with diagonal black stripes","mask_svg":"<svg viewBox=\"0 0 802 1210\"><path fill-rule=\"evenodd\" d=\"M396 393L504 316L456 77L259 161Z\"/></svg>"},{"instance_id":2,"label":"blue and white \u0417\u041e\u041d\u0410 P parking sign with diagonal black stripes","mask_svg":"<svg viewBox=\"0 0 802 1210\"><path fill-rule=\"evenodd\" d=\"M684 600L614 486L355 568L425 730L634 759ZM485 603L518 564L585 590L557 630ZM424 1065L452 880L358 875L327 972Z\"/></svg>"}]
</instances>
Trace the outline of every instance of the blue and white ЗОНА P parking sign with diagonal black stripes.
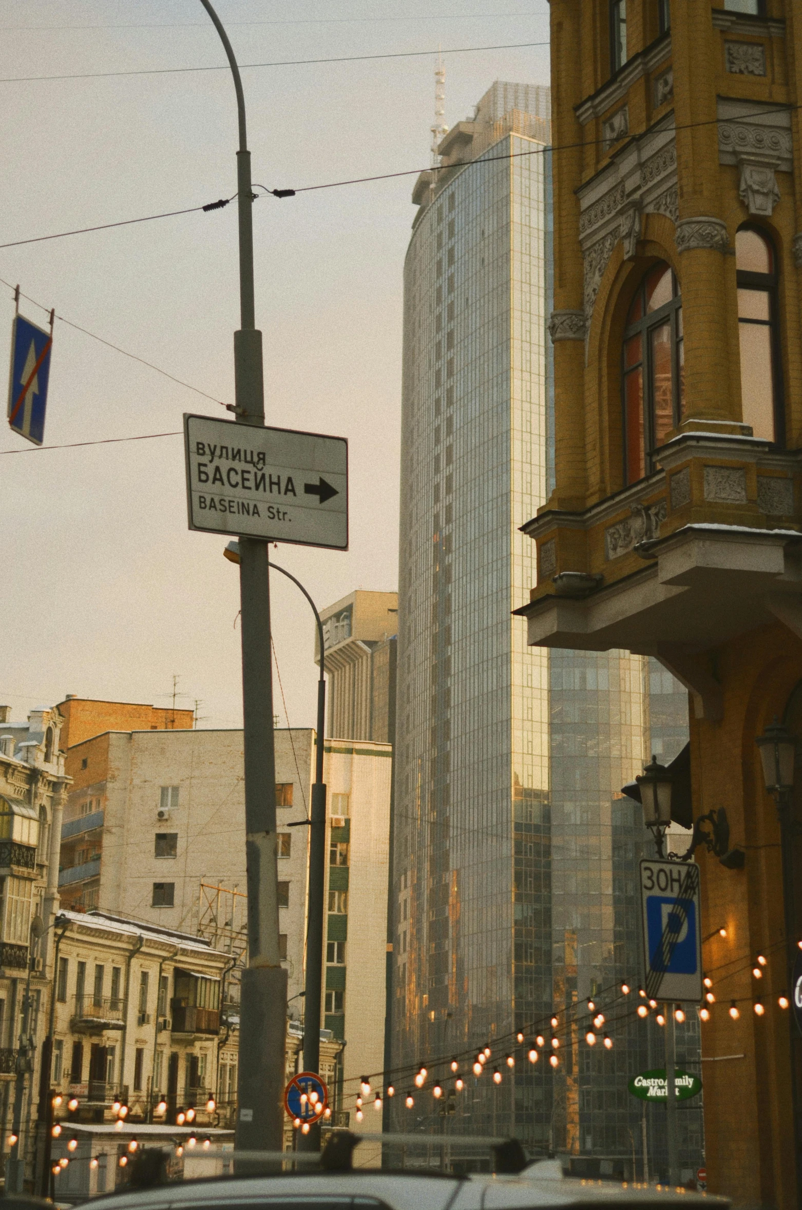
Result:
<instances>
[{"instance_id":1,"label":"blue and white \u0417\u041e\u041d\u0410 P parking sign with diagonal black stripes","mask_svg":"<svg viewBox=\"0 0 802 1210\"><path fill-rule=\"evenodd\" d=\"M641 862L645 986L651 999L701 999L699 866Z\"/></svg>"}]
</instances>

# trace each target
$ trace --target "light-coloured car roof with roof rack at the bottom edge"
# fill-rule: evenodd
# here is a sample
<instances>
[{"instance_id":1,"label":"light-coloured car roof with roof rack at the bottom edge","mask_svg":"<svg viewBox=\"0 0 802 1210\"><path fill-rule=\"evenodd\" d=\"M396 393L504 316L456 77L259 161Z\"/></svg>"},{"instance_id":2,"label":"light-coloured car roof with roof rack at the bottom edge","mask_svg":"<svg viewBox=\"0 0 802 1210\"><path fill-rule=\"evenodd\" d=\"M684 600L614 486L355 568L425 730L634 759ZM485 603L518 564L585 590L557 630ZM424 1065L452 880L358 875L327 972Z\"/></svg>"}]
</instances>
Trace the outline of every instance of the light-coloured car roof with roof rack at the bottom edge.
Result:
<instances>
[{"instance_id":1,"label":"light-coloured car roof with roof rack at the bottom edge","mask_svg":"<svg viewBox=\"0 0 802 1210\"><path fill-rule=\"evenodd\" d=\"M539 1171L538 1171L539 1170ZM531 1164L516 1175L388 1171L287 1172L270 1176L222 1176L125 1189L91 1199L92 1210L167 1210L183 1206L245 1206L307 1199L372 1199L390 1210L525 1210L539 1206L606 1208L625 1210L665 1202L705 1203L726 1210L726 1198L689 1193L683 1188L634 1182L565 1179L557 1160ZM689 1208L691 1210L691 1208Z\"/></svg>"}]
</instances>

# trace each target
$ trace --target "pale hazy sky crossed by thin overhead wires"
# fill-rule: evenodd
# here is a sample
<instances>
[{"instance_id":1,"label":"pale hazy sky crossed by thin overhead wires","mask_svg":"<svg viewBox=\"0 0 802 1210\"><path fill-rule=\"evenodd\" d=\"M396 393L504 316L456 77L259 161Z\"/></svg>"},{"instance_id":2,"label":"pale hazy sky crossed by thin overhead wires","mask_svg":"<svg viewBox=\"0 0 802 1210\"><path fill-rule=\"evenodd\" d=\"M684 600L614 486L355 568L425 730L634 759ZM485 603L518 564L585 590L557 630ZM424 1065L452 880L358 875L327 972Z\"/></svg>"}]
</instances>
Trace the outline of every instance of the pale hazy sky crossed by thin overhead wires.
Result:
<instances>
[{"instance_id":1,"label":"pale hazy sky crossed by thin overhead wires","mask_svg":"<svg viewBox=\"0 0 802 1210\"><path fill-rule=\"evenodd\" d=\"M442 47L446 123L494 80L549 82L546 0L218 0L237 59L406 54L242 71L253 180L300 188L429 163ZM0 0L0 244L201 206L236 189L228 70L199 0ZM350 547L270 558L320 609L397 588L403 257L414 174L253 207L265 422L346 437ZM57 318L46 445L176 433L229 416L239 327L235 204L0 249L0 278L206 398ZM22 300L35 323L46 311ZM13 292L0 286L0 358ZM6 335L2 335L2 334ZM6 451L19 451L8 454ZM241 725L239 576L187 528L183 440L35 450L0 433L0 703L79 697L197 705ZM313 617L274 575L275 713L314 726Z\"/></svg>"}]
</instances>

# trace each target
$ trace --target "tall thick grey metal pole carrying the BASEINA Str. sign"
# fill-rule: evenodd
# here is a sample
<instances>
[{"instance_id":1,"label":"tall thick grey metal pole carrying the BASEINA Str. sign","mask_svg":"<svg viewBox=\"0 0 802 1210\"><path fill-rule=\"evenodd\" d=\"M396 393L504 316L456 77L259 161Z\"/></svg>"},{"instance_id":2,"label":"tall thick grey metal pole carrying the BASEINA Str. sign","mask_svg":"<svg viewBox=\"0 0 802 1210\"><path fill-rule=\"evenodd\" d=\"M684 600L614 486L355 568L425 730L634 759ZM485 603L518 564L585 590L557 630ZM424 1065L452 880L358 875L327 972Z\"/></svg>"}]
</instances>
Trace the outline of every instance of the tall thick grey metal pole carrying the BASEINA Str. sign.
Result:
<instances>
[{"instance_id":1,"label":"tall thick grey metal pole carrying the BASEINA Str. sign","mask_svg":"<svg viewBox=\"0 0 802 1210\"><path fill-rule=\"evenodd\" d=\"M253 191L245 97L231 44L210 0L201 0L220 36L234 76L240 146L236 154L240 241L240 330L234 333L235 416L264 427L262 333L253 302ZM242 732L248 894L248 964L242 972L236 1147L280 1151L287 1028L287 972L279 952L275 750L270 663L268 543L240 538Z\"/></svg>"}]
</instances>

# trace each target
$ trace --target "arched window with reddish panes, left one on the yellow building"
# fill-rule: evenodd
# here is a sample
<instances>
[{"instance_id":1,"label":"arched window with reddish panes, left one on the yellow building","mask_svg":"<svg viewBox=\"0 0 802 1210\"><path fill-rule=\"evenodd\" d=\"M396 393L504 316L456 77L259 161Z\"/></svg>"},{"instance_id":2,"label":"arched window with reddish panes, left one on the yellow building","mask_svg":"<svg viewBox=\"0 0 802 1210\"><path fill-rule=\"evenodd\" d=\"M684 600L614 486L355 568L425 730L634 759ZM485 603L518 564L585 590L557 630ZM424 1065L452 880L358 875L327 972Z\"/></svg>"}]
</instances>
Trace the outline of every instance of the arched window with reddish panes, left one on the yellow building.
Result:
<instances>
[{"instance_id":1,"label":"arched window with reddish panes, left one on the yellow building","mask_svg":"<svg viewBox=\"0 0 802 1210\"><path fill-rule=\"evenodd\" d=\"M624 477L653 471L652 453L682 419L682 299L670 265L658 261L637 288L624 330Z\"/></svg>"}]
</instances>

